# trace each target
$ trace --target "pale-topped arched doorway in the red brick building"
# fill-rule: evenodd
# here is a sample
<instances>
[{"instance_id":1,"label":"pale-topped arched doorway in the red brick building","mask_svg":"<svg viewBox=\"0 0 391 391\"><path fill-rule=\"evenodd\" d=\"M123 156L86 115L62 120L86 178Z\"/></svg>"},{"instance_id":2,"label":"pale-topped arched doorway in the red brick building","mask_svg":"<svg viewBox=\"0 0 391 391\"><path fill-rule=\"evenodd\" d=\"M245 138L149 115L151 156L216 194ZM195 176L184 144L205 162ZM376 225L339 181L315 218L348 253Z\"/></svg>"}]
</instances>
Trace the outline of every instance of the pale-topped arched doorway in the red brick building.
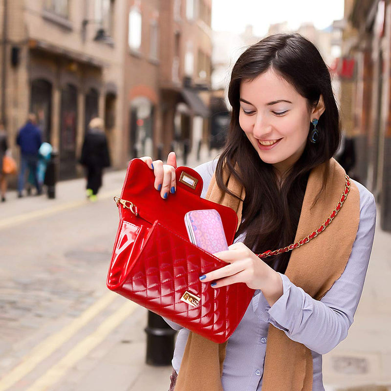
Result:
<instances>
[{"instance_id":1,"label":"pale-topped arched doorway in the red brick building","mask_svg":"<svg viewBox=\"0 0 391 391\"><path fill-rule=\"evenodd\" d=\"M146 97L133 99L130 105L130 157L153 156L154 107Z\"/></svg>"}]
</instances>

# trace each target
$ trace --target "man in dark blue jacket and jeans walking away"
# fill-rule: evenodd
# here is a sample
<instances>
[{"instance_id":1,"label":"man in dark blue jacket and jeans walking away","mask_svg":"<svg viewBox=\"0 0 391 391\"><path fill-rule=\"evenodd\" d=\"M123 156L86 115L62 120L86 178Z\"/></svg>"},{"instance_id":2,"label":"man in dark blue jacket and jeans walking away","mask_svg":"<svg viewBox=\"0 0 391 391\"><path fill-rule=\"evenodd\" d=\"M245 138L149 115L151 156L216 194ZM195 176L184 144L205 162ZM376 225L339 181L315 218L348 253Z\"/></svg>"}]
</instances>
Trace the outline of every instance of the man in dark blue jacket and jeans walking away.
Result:
<instances>
[{"instance_id":1,"label":"man in dark blue jacket and jeans walking away","mask_svg":"<svg viewBox=\"0 0 391 391\"><path fill-rule=\"evenodd\" d=\"M26 180L26 171L29 170L34 177L34 185L37 195L42 194L42 188L38 181L37 167L39 160L39 149L42 144L41 130L37 127L37 116L30 113L26 124L19 130L16 143L21 148L21 167L18 178L18 197L23 196Z\"/></svg>"}]
</instances>

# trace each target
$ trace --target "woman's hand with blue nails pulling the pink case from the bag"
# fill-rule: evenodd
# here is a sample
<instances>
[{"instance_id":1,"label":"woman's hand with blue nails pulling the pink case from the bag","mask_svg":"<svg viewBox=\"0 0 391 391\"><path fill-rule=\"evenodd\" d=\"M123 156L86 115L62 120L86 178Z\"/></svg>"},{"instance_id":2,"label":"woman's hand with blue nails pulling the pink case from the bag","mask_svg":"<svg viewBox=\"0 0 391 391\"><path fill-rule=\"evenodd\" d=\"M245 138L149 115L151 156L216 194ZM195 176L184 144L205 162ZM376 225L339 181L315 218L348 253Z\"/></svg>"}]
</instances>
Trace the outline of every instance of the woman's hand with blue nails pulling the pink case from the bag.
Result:
<instances>
[{"instance_id":1,"label":"woman's hand with blue nails pulling the pink case from the bag","mask_svg":"<svg viewBox=\"0 0 391 391\"><path fill-rule=\"evenodd\" d=\"M244 282L251 289L261 289L270 306L282 296L280 275L243 243L234 243L229 246L228 251L221 251L214 255L229 264L201 276L202 282L213 281L211 286L214 288Z\"/></svg>"}]
</instances>

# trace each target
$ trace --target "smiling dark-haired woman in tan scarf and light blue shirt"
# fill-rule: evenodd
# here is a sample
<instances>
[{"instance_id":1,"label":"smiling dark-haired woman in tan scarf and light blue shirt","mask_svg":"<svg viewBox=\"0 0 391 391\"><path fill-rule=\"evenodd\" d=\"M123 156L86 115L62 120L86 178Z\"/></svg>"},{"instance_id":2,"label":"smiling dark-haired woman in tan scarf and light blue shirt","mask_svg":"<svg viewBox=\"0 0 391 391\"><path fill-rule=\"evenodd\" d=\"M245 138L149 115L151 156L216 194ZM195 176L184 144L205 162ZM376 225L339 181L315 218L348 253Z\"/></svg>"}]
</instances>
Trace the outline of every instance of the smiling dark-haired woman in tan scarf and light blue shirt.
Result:
<instances>
[{"instance_id":1,"label":"smiling dark-haired woman in tan scarf and light blue shirt","mask_svg":"<svg viewBox=\"0 0 391 391\"><path fill-rule=\"evenodd\" d=\"M240 224L216 255L228 264L200 279L216 289L245 282L255 294L226 344L180 329L171 389L176 381L177 391L324 390L322 354L347 336L362 292L374 198L332 158L339 113L329 71L305 38L274 35L248 48L228 97L225 148L197 171L203 195L234 204ZM174 153L167 164L143 160L161 196L174 193Z\"/></svg>"}]
</instances>

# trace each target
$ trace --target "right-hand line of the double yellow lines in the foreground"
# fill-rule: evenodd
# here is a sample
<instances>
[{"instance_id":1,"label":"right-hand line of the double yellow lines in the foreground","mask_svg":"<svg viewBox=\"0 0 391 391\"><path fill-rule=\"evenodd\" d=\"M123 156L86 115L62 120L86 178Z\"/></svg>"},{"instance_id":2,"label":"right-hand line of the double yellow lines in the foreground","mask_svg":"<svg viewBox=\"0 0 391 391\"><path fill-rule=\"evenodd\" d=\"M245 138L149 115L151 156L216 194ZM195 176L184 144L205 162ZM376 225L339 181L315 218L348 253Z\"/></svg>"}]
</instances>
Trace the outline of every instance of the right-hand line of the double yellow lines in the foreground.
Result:
<instances>
[{"instance_id":1,"label":"right-hand line of the double yellow lines in the foreground","mask_svg":"<svg viewBox=\"0 0 391 391\"><path fill-rule=\"evenodd\" d=\"M97 329L72 348L64 358L50 368L42 377L40 377L27 391L48 390L53 384L57 383L65 373L72 368L78 361L87 356L87 354L99 345L109 333L119 326L126 318L138 307L133 302L126 302L117 311L109 316Z\"/></svg>"}]
</instances>

